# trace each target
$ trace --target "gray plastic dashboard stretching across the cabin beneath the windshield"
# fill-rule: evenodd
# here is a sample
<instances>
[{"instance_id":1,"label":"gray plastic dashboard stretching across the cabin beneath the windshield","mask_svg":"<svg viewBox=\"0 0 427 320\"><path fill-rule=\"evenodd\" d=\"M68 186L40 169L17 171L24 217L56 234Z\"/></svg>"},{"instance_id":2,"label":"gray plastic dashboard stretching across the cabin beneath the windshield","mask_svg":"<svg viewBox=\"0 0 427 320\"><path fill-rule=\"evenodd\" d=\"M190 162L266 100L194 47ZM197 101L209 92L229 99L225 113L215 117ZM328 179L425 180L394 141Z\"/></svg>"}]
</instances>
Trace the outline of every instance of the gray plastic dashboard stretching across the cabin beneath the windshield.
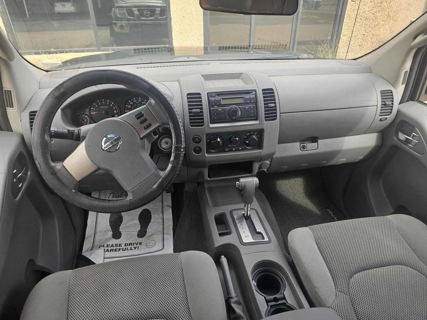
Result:
<instances>
[{"instance_id":1,"label":"gray plastic dashboard stretching across the cabin beneath the windshield","mask_svg":"<svg viewBox=\"0 0 427 320\"><path fill-rule=\"evenodd\" d=\"M173 102L185 127L186 157L177 177L180 182L250 176L261 169L281 172L364 160L379 148L381 131L394 119L398 108L398 93L392 85L357 61L201 61L111 68L149 79ZM53 87L86 70L56 71L42 77L39 89L21 113L29 146L30 115L34 116ZM79 99L120 89L111 84L82 90L61 107L52 126L76 128L68 111L78 108ZM240 91L256 93L257 116L212 121L208 95ZM190 123L191 103L189 108L189 97L194 94L200 97L196 112L202 112L198 113L196 126ZM266 94L274 99L275 107L271 107L272 100L266 100ZM270 116L273 112L267 110L268 106L275 108L275 118ZM235 150L224 151L234 133L243 142L236 144ZM258 143L251 148L244 145L246 134L256 135ZM201 141L193 140L196 136ZM216 137L222 138L223 145L213 152L208 144ZM54 141L57 160L65 158L77 144ZM85 186L88 191L98 188L90 181Z\"/></svg>"}]
</instances>

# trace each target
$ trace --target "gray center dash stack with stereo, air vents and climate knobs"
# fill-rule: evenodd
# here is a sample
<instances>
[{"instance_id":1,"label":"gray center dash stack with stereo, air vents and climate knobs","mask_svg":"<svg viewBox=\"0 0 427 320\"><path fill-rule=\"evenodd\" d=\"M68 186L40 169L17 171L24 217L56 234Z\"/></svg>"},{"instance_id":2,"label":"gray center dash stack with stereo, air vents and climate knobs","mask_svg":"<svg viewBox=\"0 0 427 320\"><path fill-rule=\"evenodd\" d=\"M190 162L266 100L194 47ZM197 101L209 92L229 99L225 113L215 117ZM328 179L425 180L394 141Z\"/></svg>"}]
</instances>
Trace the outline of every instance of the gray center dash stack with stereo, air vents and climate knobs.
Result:
<instances>
[{"instance_id":1,"label":"gray center dash stack with stereo, air vents and climate knobs","mask_svg":"<svg viewBox=\"0 0 427 320\"><path fill-rule=\"evenodd\" d=\"M269 167L279 132L277 92L270 77L247 72L199 74L180 78L179 87L187 180L249 177ZM232 169L231 163L244 163L245 172ZM248 164L251 169L246 172Z\"/></svg>"}]
</instances>

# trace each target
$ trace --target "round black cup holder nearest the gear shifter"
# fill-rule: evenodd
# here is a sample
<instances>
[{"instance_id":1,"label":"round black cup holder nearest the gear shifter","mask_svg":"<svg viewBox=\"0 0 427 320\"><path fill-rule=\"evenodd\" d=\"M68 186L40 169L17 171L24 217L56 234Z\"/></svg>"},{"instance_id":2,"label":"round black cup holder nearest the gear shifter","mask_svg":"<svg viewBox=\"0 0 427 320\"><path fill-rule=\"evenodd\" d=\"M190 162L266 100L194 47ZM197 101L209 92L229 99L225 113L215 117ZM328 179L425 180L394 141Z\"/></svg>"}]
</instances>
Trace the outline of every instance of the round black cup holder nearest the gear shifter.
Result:
<instances>
[{"instance_id":1,"label":"round black cup holder nearest the gear shifter","mask_svg":"<svg viewBox=\"0 0 427 320\"><path fill-rule=\"evenodd\" d=\"M285 282L274 270L261 269L254 274L255 290L264 297L275 297L285 291Z\"/></svg>"}]
</instances>

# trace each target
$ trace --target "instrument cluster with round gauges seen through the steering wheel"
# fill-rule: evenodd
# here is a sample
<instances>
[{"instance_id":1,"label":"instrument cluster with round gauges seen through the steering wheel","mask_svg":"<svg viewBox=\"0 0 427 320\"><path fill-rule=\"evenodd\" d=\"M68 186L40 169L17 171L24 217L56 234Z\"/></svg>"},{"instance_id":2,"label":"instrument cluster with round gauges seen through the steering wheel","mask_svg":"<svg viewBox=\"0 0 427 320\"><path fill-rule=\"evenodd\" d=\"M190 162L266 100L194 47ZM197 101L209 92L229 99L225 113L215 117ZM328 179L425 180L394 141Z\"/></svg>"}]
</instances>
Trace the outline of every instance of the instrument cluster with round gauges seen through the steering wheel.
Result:
<instances>
[{"instance_id":1,"label":"instrument cluster with round gauges seen through the steering wheel","mask_svg":"<svg viewBox=\"0 0 427 320\"><path fill-rule=\"evenodd\" d=\"M105 95L75 107L73 109L73 122L79 127L97 123L104 119L121 116L146 105L148 101L149 97L143 94L131 96L123 94Z\"/></svg>"}]
</instances>

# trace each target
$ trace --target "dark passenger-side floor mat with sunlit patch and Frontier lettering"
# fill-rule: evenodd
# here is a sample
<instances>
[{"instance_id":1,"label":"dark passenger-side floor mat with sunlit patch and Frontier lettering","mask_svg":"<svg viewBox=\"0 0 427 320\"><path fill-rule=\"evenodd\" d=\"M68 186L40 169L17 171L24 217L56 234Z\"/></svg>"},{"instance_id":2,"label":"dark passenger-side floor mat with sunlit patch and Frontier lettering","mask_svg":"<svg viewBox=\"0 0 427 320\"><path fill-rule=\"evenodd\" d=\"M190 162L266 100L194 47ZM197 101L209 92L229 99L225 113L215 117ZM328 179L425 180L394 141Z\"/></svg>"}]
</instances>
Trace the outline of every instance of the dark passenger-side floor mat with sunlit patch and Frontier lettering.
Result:
<instances>
[{"instance_id":1,"label":"dark passenger-side floor mat with sunlit patch and Frontier lettering","mask_svg":"<svg viewBox=\"0 0 427 320\"><path fill-rule=\"evenodd\" d=\"M343 217L326 195L319 169L261 173L258 179L259 189L269 201L286 247L291 230L335 221L328 208L339 219Z\"/></svg>"}]
</instances>

